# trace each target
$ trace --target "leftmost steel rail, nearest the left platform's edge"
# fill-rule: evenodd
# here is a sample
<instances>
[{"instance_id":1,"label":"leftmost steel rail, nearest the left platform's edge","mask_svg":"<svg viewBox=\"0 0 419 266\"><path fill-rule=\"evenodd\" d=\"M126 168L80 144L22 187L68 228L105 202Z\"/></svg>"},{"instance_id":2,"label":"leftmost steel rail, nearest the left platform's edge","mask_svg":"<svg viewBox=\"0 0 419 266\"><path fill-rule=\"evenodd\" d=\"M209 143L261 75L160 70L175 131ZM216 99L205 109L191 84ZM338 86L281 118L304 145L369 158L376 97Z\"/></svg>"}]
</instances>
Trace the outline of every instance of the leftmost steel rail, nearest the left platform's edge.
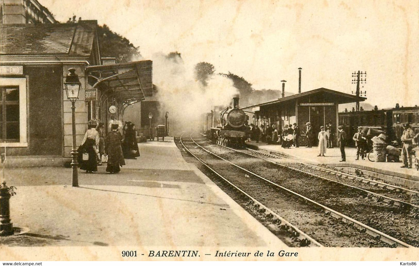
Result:
<instances>
[{"instance_id":1,"label":"leftmost steel rail, nearest the left platform's edge","mask_svg":"<svg viewBox=\"0 0 419 266\"><path fill-rule=\"evenodd\" d=\"M261 202L259 202L255 198L251 197L249 194L247 194L246 192L244 192L242 189L240 189L237 186L235 186L233 183L231 183L230 181L228 181L227 179L225 179L225 177L223 177L222 175L220 175L217 171L215 171L214 169L212 169L206 162L204 162L202 159L199 159L197 156L195 156L195 154L192 153L188 148L186 148L186 145L183 143L183 141L182 141L183 135L184 134L182 134L181 137L180 137L180 143L182 144L182 146L184 147L184 149L188 153L190 153L192 156L194 156L195 159L197 159L198 161L200 161L204 166L206 166L210 171L212 171L214 174L216 174L217 176L219 176L224 182L226 182L231 187L233 187L233 189L235 189L236 192L239 192L239 193L241 193L241 195L243 197L248 198L249 199L248 204L252 204L253 207L258 208L259 209L258 212L260 212L260 213L267 213L266 214L266 219L271 219L271 222L273 224L281 225L280 229L287 231L288 233L290 233L291 237L298 239L299 242L300 242L300 246L323 247L323 245L321 245L316 240L314 240L313 238L311 238L309 235L307 235L306 233L304 233L303 231L301 231L300 229L298 229L295 225L292 225L290 222L288 222L287 220L285 220L283 217L279 216L277 213L275 213L274 211L270 210L268 207L266 207L265 205L263 205ZM194 141L192 139L192 137L191 137L191 140ZM194 141L194 143L196 143L196 142ZM197 145L199 146L199 144L197 144ZM200 147L202 148L202 146L200 146ZM290 242L293 242L293 241L291 240Z\"/></svg>"}]
</instances>

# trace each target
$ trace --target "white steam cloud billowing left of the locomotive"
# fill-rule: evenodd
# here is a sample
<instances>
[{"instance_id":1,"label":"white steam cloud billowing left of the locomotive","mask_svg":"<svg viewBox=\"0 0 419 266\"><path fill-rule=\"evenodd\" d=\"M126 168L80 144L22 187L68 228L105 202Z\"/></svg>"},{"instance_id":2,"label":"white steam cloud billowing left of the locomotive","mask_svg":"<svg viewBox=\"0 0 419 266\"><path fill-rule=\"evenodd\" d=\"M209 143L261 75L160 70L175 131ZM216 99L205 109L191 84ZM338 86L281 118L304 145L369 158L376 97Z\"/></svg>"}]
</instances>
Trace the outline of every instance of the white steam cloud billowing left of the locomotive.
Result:
<instances>
[{"instance_id":1,"label":"white steam cloud billowing left of the locomotive","mask_svg":"<svg viewBox=\"0 0 419 266\"><path fill-rule=\"evenodd\" d=\"M158 87L156 97L161 113L169 112L169 130L178 135L185 130L202 130L204 114L214 105L228 105L238 90L233 82L221 75L212 75L207 86L186 69L180 56L153 56L153 83Z\"/></svg>"}]
</instances>

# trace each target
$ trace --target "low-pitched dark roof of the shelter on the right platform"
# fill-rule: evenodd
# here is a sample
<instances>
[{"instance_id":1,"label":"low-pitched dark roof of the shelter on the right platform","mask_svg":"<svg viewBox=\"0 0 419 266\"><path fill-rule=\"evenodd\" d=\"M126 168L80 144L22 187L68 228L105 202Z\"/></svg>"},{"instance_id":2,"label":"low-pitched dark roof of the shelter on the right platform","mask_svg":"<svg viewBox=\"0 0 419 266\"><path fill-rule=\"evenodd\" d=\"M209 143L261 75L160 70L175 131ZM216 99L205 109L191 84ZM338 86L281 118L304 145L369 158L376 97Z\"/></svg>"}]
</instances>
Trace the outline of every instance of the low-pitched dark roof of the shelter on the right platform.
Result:
<instances>
[{"instance_id":1,"label":"low-pitched dark roof of the shelter on the right platform","mask_svg":"<svg viewBox=\"0 0 419 266\"><path fill-rule=\"evenodd\" d=\"M356 102L356 101L365 101L367 98L365 97L357 97L356 95L351 95L351 94L347 94L344 92L338 92L336 90L329 90L326 88L318 88L316 90L309 90L308 92L301 92L298 94L294 94L291 96L287 96L284 98L279 98L278 100L274 100L274 101L270 101L270 102L264 102L264 103L260 103L257 105L251 105L251 106L247 106L241 109L248 109L248 108L252 108L252 107L258 107L258 106L264 106L264 105L271 105L271 104L277 104L277 103L287 103L287 102L291 102L291 101L295 101L299 98L305 97L305 96L309 96L309 95L315 95L315 94L328 94L333 96L334 102L338 103L338 104L342 104L342 103L348 103L348 102Z\"/></svg>"}]
</instances>

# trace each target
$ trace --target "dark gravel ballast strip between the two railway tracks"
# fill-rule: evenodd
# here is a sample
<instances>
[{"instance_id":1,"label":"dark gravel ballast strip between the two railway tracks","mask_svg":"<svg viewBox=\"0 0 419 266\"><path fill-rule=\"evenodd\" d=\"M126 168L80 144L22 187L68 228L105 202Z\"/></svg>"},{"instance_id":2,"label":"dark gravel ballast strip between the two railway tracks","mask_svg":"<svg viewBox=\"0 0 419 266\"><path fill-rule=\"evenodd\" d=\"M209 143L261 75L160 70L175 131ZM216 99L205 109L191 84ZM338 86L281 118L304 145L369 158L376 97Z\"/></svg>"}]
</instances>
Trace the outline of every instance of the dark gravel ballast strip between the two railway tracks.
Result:
<instances>
[{"instance_id":1,"label":"dark gravel ballast strip between the two railway tracks","mask_svg":"<svg viewBox=\"0 0 419 266\"><path fill-rule=\"evenodd\" d=\"M208 142L204 140L204 146L208 145ZM236 164L242 167L251 169L271 181L303 194L311 200L316 200L322 205L352 217L380 232L391 235L393 238L413 246L419 246L419 221L417 219L416 205L411 205L407 202L398 202L398 205L395 205L397 200L388 200L386 199L388 197L383 197L379 194L374 196L374 200L374 193L365 189L348 186L281 164L276 164L276 167L272 167L274 164L271 162L247 153L237 152L238 150L233 148L214 144L208 146L210 150L211 147L212 149L214 147L221 148L221 150L216 152L228 161L236 161ZM230 150L233 153L224 152L223 150ZM240 156L240 154L245 157ZM252 157L256 160L249 161L248 158ZM287 174L287 172L294 172L294 174ZM283 178L281 176L287 177Z\"/></svg>"}]
</instances>

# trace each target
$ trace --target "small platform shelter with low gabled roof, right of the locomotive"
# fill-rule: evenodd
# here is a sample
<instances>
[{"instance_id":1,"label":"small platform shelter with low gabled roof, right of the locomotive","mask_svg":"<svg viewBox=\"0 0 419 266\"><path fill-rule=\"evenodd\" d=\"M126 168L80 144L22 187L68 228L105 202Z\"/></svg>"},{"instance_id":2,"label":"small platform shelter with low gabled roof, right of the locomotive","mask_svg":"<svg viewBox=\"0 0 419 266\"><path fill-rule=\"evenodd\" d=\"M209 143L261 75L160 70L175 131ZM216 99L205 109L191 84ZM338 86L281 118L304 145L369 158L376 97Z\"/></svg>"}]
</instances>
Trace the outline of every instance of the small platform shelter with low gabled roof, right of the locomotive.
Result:
<instances>
[{"instance_id":1,"label":"small platform shelter with low gabled roof, right of the locomotive","mask_svg":"<svg viewBox=\"0 0 419 266\"><path fill-rule=\"evenodd\" d=\"M297 123L301 132L300 145L307 145L304 135L307 122L311 123L314 136L317 136L320 126L331 123L336 130L336 142L337 126L339 125L339 104L361 102L366 99L365 97L319 88L242 109L254 113L253 121L259 126L275 124L277 128L282 130L284 125ZM317 138L315 137L315 139Z\"/></svg>"}]
</instances>

